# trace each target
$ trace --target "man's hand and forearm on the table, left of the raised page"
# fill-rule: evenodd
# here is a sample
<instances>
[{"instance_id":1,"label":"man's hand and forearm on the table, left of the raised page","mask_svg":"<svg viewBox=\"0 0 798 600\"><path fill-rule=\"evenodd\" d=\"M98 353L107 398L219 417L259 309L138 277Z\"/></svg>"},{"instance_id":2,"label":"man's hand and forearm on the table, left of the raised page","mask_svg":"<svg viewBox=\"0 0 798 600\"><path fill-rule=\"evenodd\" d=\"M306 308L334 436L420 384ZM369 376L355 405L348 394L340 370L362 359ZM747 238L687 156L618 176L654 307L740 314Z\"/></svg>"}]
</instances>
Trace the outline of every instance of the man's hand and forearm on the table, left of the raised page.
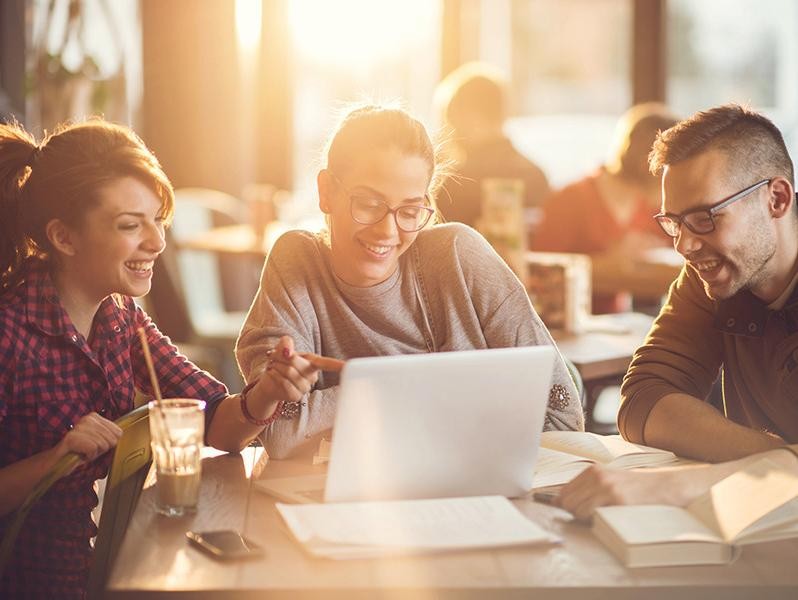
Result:
<instances>
[{"instance_id":1,"label":"man's hand and forearm on the table, left of the raised page","mask_svg":"<svg viewBox=\"0 0 798 600\"><path fill-rule=\"evenodd\" d=\"M621 471L592 465L560 490L556 506L577 519L589 519L599 506L614 504L684 505L675 471Z\"/></svg>"}]
</instances>

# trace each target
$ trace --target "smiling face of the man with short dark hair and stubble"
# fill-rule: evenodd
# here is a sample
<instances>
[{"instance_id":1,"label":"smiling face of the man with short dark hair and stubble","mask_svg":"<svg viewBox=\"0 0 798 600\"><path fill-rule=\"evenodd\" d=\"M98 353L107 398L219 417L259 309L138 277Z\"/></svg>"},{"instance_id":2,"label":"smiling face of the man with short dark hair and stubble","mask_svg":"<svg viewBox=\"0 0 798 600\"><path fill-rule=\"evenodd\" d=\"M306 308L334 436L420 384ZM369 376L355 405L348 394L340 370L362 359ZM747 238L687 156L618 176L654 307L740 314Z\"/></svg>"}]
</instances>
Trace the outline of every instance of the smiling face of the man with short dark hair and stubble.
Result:
<instances>
[{"instance_id":1,"label":"smiling face of the man with short dark hair and stubble","mask_svg":"<svg viewBox=\"0 0 798 600\"><path fill-rule=\"evenodd\" d=\"M665 168L663 212L709 206L755 183L729 177L725 155L708 150ZM738 178L739 179L739 178ZM674 247L701 278L707 295L725 299L742 289L754 294L773 277L777 235L768 213L765 185L714 215L715 230L698 235L682 226Z\"/></svg>"}]
</instances>

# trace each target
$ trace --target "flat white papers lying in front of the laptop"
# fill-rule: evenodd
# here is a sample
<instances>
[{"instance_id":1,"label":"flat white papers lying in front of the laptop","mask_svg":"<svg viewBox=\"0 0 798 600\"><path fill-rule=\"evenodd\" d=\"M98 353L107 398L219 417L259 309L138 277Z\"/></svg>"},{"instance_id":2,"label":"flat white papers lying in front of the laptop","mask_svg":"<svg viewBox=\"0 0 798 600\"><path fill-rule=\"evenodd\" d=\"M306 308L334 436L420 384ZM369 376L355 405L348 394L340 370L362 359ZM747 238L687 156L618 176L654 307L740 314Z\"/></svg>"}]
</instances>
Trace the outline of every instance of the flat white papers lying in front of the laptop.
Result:
<instances>
[{"instance_id":1,"label":"flat white papers lying in front of the laptop","mask_svg":"<svg viewBox=\"0 0 798 600\"><path fill-rule=\"evenodd\" d=\"M559 541L502 496L276 506L305 550L327 558L370 558Z\"/></svg>"}]
</instances>

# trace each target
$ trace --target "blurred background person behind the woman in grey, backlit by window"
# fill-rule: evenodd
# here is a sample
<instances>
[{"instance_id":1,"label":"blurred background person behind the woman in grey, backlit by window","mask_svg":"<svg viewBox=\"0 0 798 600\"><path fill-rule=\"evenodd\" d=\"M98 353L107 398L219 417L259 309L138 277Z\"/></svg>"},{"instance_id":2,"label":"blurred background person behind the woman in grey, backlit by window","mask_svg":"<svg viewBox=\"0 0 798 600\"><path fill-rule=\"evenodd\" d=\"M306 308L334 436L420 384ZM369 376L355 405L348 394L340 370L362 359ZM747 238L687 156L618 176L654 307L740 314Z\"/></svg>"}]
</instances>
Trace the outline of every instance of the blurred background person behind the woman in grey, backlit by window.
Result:
<instances>
[{"instance_id":1,"label":"blurred background person behind the woman in grey, backlit by window","mask_svg":"<svg viewBox=\"0 0 798 600\"><path fill-rule=\"evenodd\" d=\"M507 84L494 67L466 63L438 85L435 104L449 133L454 175L446 184L439 210L446 221L474 227L481 215L482 181L523 182L524 205L540 206L549 193L543 171L527 159L504 133Z\"/></svg>"}]
</instances>

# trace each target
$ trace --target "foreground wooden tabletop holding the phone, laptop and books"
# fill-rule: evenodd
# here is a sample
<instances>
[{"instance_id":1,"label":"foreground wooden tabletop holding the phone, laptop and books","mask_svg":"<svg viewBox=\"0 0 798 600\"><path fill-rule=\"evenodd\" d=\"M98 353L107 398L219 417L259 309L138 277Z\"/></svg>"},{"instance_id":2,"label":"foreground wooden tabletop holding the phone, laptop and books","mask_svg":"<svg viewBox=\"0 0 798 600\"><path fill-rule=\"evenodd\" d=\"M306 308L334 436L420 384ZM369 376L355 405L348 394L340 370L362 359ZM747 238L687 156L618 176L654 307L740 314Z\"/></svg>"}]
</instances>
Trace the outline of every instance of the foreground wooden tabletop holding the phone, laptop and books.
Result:
<instances>
[{"instance_id":1,"label":"foreground wooden tabletop holding the phone, laptop and books","mask_svg":"<svg viewBox=\"0 0 798 600\"><path fill-rule=\"evenodd\" d=\"M250 452L251 450L248 450ZM251 456L251 455L250 455ZM250 460L247 457L246 462ZM558 509L516 501L521 511L560 535L555 546L448 552L395 559L333 561L310 558L289 537L265 494L252 491L245 533L266 548L259 559L221 563L189 546L187 530L241 529L247 504L245 460L203 460L196 515L168 519L154 511L145 489L109 581L109 598L545 598L743 600L798 597L798 542L749 546L723 567L630 570ZM263 475L313 471L289 461L266 464ZM318 467L315 467L318 469Z\"/></svg>"}]
</instances>

